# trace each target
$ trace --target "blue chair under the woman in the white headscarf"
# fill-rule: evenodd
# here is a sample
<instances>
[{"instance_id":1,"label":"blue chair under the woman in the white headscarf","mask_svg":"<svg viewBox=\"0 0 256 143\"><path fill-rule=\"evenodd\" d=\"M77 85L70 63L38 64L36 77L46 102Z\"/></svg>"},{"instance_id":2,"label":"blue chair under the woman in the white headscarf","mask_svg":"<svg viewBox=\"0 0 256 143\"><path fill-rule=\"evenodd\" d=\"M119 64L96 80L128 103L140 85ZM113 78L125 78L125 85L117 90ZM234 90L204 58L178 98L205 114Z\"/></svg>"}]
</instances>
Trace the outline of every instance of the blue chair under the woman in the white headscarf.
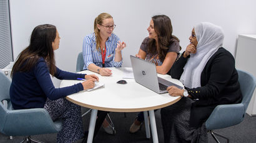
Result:
<instances>
[{"instance_id":1,"label":"blue chair under the woman in the white headscarf","mask_svg":"<svg viewBox=\"0 0 256 143\"><path fill-rule=\"evenodd\" d=\"M217 134L213 130L234 126L242 122L244 120L245 111L250 103L250 99L254 94L256 78L247 71L237 70L237 72L239 74L239 83L243 95L242 103L222 104L216 106L205 122L206 128L209 130L216 142L219 141L215 135L227 139L227 142L229 143L229 139L227 137Z\"/></svg>"}]
</instances>

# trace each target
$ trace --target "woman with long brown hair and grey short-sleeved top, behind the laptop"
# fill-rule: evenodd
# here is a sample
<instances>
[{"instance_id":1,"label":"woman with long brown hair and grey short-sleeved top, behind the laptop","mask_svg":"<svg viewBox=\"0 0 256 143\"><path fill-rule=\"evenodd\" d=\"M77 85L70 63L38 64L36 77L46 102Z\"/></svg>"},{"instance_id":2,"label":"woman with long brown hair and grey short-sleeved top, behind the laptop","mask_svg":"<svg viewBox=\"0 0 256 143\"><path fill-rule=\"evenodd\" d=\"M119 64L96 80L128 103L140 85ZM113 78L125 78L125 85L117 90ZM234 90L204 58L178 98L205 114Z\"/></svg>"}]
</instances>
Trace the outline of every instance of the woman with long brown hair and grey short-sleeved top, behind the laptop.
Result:
<instances>
[{"instance_id":1,"label":"woman with long brown hair and grey short-sleeved top, behind the laptop","mask_svg":"<svg viewBox=\"0 0 256 143\"><path fill-rule=\"evenodd\" d=\"M155 63L157 73L165 75L180 52L179 39L172 35L172 22L165 15L153 16L147 30L149 37L143 40L136 57ZM130 126L130 132L139 131L143 121L144 115L140 112Z\"/></svg>"}]
</instances>

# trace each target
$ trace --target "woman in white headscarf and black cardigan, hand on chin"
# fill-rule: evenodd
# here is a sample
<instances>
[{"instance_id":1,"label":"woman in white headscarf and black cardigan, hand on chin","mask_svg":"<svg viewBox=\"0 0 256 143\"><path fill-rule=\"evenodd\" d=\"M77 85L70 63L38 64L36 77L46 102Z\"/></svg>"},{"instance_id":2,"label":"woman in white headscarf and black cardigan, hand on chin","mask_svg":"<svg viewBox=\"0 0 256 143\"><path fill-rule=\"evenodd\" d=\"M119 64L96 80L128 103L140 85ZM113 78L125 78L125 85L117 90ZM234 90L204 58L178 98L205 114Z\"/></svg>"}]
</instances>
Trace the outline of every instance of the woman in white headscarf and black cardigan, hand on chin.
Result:
<instances>
[{"instance_id":1,"label":"woman in white headscarf and black cardigan, hand on chin","mask_svg":"<svg viewBox=\"0 0 256 143\"><path fill-rule=\"evenodd\" d=\"M187 46L170 70L185 90L169 86L171 96L183 96L161 109L165 142L207 142L205 121L215 106L242 101L235 60L222 47L222 29L208 22L196 25Z\"/></svg>"}]
</instances>

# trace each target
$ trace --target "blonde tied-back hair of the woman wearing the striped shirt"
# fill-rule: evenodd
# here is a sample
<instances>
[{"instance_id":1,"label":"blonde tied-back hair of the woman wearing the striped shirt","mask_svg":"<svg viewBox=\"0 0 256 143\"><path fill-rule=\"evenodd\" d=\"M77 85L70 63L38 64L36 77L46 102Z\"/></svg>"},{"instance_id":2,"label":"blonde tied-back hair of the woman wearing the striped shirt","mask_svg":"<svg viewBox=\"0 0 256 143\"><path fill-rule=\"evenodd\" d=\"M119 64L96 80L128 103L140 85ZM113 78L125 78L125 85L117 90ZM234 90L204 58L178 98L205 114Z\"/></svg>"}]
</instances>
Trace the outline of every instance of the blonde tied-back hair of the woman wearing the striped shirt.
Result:
<instances>
[{"instance_id":1,"label":"blonde tied-back hair of the woman wearing the striped shirt","mask_svg":"<svg viewBox=\"0 0 256 143\"><path fill-rule=\"evenodd\" d=\"M102 21L105 19L112 19L113 17L108 13L101 13L99 16L96 17L94 20L94 33L96 37L96 48L97 50L101 50L101 35L99 35L99 29L97 27L97 24L101 25Z\"/></svg>"}]
</instances>

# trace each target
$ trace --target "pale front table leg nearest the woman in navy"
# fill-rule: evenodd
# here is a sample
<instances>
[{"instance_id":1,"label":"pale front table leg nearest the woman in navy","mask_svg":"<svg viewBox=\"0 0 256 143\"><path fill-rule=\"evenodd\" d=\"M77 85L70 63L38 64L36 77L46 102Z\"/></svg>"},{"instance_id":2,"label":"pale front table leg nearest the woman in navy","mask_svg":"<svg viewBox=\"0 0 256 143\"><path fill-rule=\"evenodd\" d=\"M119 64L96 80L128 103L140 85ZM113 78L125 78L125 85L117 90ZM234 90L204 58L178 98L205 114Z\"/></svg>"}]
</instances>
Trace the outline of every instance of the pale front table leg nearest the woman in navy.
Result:
<instances>
[{"instance_id":1,"label":"pale front table leg nearest the woman in navy","mask_svg":"<svg viewBox=\"0 0 256 143\"><path fill-rule=\"evenodd\" d=\"M97 109L92 109L87 143L92 143L92 140L93 140L94 128L95 128L95 123L97 119L97 112L98 112Z\"/></svg>"}]
</instances>

